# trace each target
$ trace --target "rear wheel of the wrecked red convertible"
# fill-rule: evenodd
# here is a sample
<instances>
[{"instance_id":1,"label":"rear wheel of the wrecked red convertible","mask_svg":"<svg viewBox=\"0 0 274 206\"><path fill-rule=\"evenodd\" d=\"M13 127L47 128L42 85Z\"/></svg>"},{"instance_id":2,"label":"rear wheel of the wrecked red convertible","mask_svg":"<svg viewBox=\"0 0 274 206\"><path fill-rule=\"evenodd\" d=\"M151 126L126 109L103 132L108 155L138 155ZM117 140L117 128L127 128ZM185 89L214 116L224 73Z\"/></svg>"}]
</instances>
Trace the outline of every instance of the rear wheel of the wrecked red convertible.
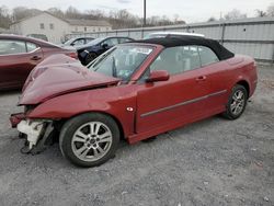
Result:
<instances>
[{"instance_id":1,"label":"rear wheel of the wrecked red convertible","mask_svg":"<svg viewBox=\"0 0 274 206\"><path fill-rule=\"evenodd\" d=\"M237 98L238 96L238 98ZM222 113L228 119L239 118L246 110L248 102L248 91L243 85L236 84L229 95L226 112Z\"/></svg>"}]
</instances>

